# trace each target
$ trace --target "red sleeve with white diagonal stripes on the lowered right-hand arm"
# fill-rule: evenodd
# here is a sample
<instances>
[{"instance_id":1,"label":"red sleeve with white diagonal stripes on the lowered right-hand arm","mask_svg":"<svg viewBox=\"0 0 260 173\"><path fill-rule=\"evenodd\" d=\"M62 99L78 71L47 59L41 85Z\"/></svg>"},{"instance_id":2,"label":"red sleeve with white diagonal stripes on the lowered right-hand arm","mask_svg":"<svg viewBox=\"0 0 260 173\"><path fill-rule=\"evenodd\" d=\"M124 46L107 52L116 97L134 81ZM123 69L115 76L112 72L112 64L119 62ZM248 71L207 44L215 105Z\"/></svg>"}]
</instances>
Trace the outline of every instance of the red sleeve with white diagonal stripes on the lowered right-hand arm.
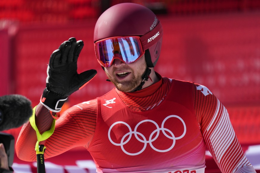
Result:
<instances>
[{"instance_id":1,"label":"red sleeve with white diagonal stripes on the lowered right-hand arm","mask_svg":"<svg viewBox=\"0 0 260 173\"><path fill-rule=\"evenodd\" d=\"M205 144L221 172L256 172L241 148L227 109L217 97L207 87L195 84L193 99Z\"/></svg>"}]
</instances>

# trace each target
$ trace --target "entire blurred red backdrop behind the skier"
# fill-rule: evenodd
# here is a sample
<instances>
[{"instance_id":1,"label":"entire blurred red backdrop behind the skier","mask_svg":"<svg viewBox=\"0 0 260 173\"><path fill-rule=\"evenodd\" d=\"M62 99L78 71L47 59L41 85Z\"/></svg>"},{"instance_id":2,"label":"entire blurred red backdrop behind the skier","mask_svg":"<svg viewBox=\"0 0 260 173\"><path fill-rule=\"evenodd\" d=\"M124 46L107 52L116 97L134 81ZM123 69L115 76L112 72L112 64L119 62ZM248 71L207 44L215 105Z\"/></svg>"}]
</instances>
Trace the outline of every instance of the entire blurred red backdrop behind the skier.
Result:
<instances>
[{"instance_id":1,"label":"entire blurred red backdrop behind the skier","mask_svg":"<svg viewBox=\"0 0 260 173\"><path fill-rule=\"evenodd\" d=\"M108 6L120 2L129 1L113 0ZM132 2L154 10L163 26L162 51L155 71L208 87L228 109L241 144L246 148L260 144L260 1ZM49 57L70 37L85 44L78 72L96 69L98 75L71 95L68 104L109 91L113 85L105 81L93 44L95 22L102 9L108 7L103 5L98 0L1 1L0 96L21 94L36 106L45 87ZM8 133L16 139L19 130ZM260 160L259 155L256 158ZM75 165L78 159L91 157L75 149L49 161L64 166ZM24 162L15 158L15 163ZM214 170L214 161L209 159L206 164L207 171Z\"/></svg>"}]
</instances>

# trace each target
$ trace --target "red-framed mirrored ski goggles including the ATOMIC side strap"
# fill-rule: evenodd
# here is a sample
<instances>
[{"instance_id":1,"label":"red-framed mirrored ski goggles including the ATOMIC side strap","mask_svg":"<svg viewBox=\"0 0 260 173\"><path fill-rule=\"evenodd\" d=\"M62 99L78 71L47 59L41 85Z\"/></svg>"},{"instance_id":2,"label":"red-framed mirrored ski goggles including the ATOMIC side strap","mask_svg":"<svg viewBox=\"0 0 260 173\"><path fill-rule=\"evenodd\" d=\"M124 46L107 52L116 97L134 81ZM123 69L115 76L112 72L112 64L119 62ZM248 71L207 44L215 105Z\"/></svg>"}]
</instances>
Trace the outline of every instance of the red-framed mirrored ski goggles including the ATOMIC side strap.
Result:
<instances>
[{"instance_id":1,"label":"red-framed mirrored ski goggles including the ATOMIC side strap","mask_svg":"<svg viewBox=\"0 0 260 173\"><path fill-rule=\"evenodd\" d=\"M96 58L102 67L110 67L115 59L126 64L137 61L145 50L162 37L161 23L143 36L110 37L94 43Z\"/></svg>"}]
</instances>

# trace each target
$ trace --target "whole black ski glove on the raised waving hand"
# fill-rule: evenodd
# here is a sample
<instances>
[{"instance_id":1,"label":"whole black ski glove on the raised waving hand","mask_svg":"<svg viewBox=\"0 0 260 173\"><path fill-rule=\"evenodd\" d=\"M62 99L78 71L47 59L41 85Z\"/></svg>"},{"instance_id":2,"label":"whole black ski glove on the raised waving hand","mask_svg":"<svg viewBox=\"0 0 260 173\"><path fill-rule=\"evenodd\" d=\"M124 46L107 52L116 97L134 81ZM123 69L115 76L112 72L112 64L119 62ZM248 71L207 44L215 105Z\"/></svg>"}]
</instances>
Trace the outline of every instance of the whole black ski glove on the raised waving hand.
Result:
<instances>
[{"instance_id":1,"label":"whole black ski glove on the raised waving hand","mask_svg":"<svg viewBox=\"0 0 260 173\"><path fill-rule=\"evenodd\" d=\"M82 40L77 41L72 37L52 53L47 68L46 88L40 100L50 111L59 112L69 95L96 76L96 70L77 73L77 60L83 46Z\"/></svg>"}]
</instances>

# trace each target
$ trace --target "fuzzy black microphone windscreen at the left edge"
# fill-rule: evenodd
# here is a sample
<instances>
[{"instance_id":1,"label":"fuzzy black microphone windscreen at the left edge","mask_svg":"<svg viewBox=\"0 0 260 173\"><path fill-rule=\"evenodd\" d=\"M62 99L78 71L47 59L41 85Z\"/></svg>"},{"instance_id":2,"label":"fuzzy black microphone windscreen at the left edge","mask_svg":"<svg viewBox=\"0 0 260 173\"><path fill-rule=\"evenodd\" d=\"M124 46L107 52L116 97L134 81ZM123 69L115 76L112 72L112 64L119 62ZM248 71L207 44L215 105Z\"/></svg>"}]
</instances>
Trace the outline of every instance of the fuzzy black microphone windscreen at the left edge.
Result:
<instances>
[{"instance_id":1,"label":"fuzzy black microphone windscreen at the left edge","mask_svg":"<svg viewBox=\"0 0 260 173\"><path fill-rule=\"evenodd\" d=\"M0 97L0 131L18 128L32 116L31 101L18 94Z\"/></svg>"}]
</instances>

